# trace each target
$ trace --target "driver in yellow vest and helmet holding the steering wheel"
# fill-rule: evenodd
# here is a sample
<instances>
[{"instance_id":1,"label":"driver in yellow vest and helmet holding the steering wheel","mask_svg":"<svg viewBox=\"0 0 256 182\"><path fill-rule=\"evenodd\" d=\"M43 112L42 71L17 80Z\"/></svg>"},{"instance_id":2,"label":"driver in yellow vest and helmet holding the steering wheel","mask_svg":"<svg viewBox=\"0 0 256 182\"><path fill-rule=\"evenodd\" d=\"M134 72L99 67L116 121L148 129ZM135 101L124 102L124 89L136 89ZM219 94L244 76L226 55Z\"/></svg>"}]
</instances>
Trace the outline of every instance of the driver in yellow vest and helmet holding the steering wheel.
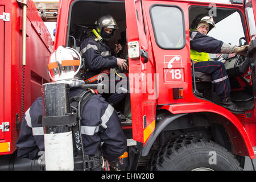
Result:
<instances>
[{"instance_id":1,"label":"driver in yellow vest and helmet holding the steering wheel","mask_svg":"<svg viewBox=\"0 0 256 182\"><path fill-rule=\"evenodd\" d=\"M195 21L193 22L195 24ZM215 26L212 16L204 16L196 22L195 29L189 31L191 45L191 59L195 64L196 72L211 75L216 93L221 98L220 105L233 112L243 111L238 108L229 97L230 82L221 61L209 60L208 53L238 53L246 56L246 46L231 46L220 40L207 36L208 32Z\"/></svg>"}]
</instances>

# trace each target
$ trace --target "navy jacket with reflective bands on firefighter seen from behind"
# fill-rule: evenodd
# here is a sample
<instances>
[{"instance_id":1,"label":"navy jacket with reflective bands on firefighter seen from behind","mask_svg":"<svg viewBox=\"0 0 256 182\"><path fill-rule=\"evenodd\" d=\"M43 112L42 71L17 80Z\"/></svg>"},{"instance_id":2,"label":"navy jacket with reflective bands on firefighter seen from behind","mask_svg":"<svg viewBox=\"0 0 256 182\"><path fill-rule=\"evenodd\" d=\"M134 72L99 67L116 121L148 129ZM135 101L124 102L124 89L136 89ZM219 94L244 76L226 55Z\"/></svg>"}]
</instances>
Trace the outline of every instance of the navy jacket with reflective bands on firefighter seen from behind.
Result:
<instances>
[{"instance_id":1,"label":"navy jacket with reflective bands on firefighter seen from behind","mask_svg":"<svg viewBox=\"0 0 256 182\"><path fill-rule=\"evenodd\" d=\"M82 89L74 89L69 95L77 96L80 92ZM37 122L39 115L43 115L42 97L36 99L24 115L16 142L18 158L38 159L38 152L44 151L44 130ZM118 115L100 94L94 94L82 110L81 133L86 155L100 152L101 142L104 142L101 146L104 158L109 161L126 150L126 137Z\"/></svg>"}]
</instances>

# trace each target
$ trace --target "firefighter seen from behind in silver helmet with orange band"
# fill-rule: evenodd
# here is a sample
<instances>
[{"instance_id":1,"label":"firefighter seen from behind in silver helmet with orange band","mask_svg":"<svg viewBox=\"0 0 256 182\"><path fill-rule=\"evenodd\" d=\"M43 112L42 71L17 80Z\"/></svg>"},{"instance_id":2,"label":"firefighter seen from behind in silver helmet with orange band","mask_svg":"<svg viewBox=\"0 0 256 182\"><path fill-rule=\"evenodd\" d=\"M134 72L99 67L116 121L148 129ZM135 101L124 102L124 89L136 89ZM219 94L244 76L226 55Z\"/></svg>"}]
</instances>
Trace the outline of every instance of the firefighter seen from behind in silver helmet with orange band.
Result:
<instances>
[{"instance_id":1,"label":"firefighter seen from behind in silver helmet with orange band","mask_svg":"<svg viewBox=\"0 0 256 182\"><path fill-rule=\"evenodd\" d=\"M69 85L69 98L75 97L84 89L79 77L81 56L75 49L60 46L49 57L48 71L53 82ZM18 158L38 159L39 151L44 151L44 129L38 123L43 115L43 98L37 98L26 111L19 138L16 142ZM100 161L101 156L112 161L126 150L126 137L123 134L118 115L114 108L100 94L93 94L81 110L81 136L86 157ZM102 144L103 142L103 144ZM73 144L76 156L76 145ZM97 156L96 156L97 154ZM89 168L101 169L100 163Z\"/></svg>"}]
</instances>

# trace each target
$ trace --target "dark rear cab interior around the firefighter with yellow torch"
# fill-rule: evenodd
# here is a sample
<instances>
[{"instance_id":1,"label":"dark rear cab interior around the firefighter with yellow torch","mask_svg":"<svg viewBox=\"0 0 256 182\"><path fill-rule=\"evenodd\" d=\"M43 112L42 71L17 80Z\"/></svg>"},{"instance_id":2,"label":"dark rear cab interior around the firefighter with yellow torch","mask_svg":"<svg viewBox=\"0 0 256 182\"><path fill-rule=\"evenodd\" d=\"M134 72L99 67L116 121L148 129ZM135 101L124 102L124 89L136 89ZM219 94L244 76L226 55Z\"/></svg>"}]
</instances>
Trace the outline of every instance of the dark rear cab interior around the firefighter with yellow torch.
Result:
<instances>
[{"instance_id":1,"label":"dark rear cab interior around the firefighter with yellow torch","mask_svg":"<svg viewBox=\"0 0 256 182\"><path fill-rule=\"evenodd\" d=\"M114 49L114 45L120 43L122 51L118 53L118 57L128 60L127 39L126 39L126 15L124 1L87 1L77 0L72 2L69 10L68 30L67 30L67 47L75 48L80 52L80 44L84 39L86 32L96 28L95 22L103 15L112 15L118 24L113 37L108 42L110 48ZM130 114L130 94L121 101L115 109L125 114ZM125 122L125 118L123 119ZM131 121L127 125L131 125Z\"/></svg>"}]
</instances>

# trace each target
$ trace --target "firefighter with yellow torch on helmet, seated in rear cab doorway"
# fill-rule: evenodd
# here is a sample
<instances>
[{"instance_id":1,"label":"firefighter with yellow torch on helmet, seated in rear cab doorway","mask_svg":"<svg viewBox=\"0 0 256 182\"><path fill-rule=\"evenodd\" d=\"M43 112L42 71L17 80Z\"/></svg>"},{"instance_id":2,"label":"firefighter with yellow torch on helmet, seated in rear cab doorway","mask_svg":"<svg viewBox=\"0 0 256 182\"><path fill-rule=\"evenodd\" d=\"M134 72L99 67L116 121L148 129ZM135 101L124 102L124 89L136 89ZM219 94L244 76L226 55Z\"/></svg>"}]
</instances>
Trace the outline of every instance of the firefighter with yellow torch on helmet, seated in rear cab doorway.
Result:
<instances>
[{"instance_id":1,"label":"firefighter with yellow torch on helmet, seated in rear cab doorway","mask_svg":"<svg viewBox=\"0 0 256 182\"><path fill-rule=\"evenodd\" d=\"M110 91L110 81L115 82L114 85L118 83L115 77L110 77L110 69L121 67L122 70L125 70L128 68L127 61L116 56L117 53L121 51L122 46L115 44L114 51L111 51L108 44L108 41L112 38L117 28L118 26L115 19L111 15L104 15L96 21L96 30L88 32L86 38L82 40L80 51L85 60L85 82L87 84L97 84L108 80L105 84ZM106 79L106 77L108 79ZM119 80L121 80L121 78L119 78ZM116 88L117 90L115 90L114 93L102 94L112 105L118 104L127 93L127 78L123 78L121 81L123 84L119 84L121 86Z\"/></svg>"}]
</instances>

